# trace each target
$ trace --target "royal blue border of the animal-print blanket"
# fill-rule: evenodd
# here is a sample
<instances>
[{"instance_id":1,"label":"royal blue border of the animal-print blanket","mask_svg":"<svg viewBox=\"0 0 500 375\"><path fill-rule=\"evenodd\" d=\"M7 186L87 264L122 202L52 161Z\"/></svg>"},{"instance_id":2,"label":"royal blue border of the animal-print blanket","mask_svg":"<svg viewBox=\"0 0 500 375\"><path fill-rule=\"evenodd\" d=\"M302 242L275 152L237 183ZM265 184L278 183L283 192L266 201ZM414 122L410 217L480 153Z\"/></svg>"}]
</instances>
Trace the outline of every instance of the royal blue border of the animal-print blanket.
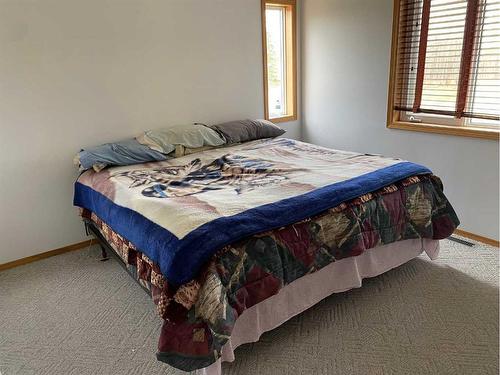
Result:
<instances>
[{"instance_id":1,"label":"royal blue border of the animal-print blanket","mask_svg":"<svg viewBox=\"0 0 500 375\"><path fill-rule=\"evenodd\" d=\"M181 285L195 278L203 264L226 245L307 219L412 175L427 173L431 171L422 165L397 163L296 197L220 217L194 229L182 239L78 181L75 182L73 203L94 212L157 263L170 283Z\"/></svg>"}]
</instances>

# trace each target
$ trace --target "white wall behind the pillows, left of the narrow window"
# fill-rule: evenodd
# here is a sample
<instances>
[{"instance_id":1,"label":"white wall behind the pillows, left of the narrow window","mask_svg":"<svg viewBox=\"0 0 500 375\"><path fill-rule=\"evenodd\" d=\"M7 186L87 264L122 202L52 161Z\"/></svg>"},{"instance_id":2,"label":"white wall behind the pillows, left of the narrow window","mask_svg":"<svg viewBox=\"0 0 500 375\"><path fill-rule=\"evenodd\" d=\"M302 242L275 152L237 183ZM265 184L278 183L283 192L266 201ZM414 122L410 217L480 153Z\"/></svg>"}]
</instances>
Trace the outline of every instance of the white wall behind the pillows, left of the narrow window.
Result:
<instances>
[{"instance_id":1,"label":"white wall behind the pillows, left of the narrow window","mask_svg":"<svg viewBox=\"0 0 500 375\"><path fill-rule=\"evenodd\" d=\"M80 147L261 118L260 21L260 0L1 0L0 264L85 238Z\"/></svg>"}]
</instances>

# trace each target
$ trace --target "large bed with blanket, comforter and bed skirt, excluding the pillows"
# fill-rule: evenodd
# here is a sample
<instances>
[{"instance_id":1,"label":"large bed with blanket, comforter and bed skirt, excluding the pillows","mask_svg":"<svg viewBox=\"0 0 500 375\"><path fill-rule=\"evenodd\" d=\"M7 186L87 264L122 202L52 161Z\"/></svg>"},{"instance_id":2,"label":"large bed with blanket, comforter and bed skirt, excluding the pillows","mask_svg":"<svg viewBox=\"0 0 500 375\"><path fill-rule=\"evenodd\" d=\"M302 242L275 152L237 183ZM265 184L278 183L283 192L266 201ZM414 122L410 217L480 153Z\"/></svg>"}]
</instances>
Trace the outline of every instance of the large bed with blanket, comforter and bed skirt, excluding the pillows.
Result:
<instances>
[{"instance_id":1,"label":"large bed with blanket, comforter and bed skirt, excluding the pillows","mask_svg":"<svg viewBox=\"0 0 500 375\"><path fill-rule=\"evenodd\" d=\"M421 165L286 138L90 170L74 204L151 294L157 359L206 375L328 295L435 258L459 224Z\"/></svg>"}]
</instances>

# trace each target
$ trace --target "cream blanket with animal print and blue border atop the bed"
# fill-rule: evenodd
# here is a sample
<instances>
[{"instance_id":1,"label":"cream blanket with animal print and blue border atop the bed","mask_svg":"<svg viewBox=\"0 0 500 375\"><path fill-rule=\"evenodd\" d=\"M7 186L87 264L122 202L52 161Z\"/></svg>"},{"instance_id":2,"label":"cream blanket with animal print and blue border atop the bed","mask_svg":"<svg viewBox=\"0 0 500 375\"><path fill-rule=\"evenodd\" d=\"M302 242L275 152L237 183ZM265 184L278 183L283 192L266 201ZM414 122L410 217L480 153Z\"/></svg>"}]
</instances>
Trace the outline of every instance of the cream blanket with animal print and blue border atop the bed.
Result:
<instances>
[{"instance_id":1,"label":"cream blanket with animal print and blue border atop the bed","mask_svg":"<svg viewBox=\"0 0 500 375\"><path fill-rule=\"evenodd\" d=\"M90 170L75 184L74 203L95 212L180 285L226 245L426 173L398 159L271 139Z\"/></svg>"}]
</instances>

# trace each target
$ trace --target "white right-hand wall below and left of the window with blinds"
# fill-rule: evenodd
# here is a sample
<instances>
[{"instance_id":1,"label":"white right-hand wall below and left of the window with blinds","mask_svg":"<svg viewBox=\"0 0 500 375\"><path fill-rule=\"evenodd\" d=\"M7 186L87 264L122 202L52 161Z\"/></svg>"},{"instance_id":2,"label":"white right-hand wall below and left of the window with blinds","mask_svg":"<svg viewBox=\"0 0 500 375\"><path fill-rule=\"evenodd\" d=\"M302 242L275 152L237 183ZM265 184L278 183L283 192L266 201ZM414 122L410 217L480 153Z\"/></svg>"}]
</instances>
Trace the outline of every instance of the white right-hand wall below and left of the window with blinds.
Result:
<instances>
[{"instance_id":1,"label":"white right-hand wall below and left of the window with blinds","mask_svg":"<svg viewBox=\"0 0 500 375\"><path fill-rule=\"evenodd\" d=\"M461 228L498 240L498 142L385 127L392 0L304 0L301 14L305 140L427 165Z\"/></svg>"}]
</instances>

